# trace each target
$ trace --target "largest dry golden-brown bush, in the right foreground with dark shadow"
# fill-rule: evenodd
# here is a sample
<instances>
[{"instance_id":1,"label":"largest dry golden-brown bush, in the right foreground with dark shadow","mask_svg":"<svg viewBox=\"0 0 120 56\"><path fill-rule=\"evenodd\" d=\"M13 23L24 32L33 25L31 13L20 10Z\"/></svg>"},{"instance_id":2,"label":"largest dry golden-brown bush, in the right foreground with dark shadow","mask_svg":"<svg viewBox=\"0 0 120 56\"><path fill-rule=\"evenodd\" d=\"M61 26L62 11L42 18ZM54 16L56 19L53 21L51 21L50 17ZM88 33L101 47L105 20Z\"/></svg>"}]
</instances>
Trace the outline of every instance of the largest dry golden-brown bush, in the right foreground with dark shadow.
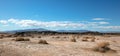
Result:
<instances>
[{"instance_id":1,"label":"largest dry golden-brown bush, in the right foreground with dark shadow","mask_svg":"<svg viewBox=\"0 0 120 56\"><path fill-rule=\"evenodd\" d=\"M97 46L95 46L92 50L101 53L106 53L108 51L116 52L115 50L109 48L109 45L110 45L109 42L100 42L97 43Z\"/></svg>"}]
</instances>

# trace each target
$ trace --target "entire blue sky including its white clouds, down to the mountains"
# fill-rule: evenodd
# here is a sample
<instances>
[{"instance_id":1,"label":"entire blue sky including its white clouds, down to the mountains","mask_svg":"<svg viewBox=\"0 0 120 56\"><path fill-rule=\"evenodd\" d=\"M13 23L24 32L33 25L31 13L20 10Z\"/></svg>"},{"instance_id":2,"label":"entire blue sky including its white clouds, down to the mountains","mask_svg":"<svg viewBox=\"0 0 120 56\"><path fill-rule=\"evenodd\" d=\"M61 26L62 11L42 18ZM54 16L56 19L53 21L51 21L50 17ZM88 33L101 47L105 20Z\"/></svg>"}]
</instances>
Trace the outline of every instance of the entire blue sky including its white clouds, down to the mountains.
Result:
<instances>
[{"instance_id":1,"label":"entire blue sky including its white clouds, down to the mountains","mask_svg":"<svg viewBox=\"0 0 120 56\"><path fill-rule=\"evenodd\" d=\"M0 31L120 31L120 0L0 0Z\"/></svg>"}]
</instances>

